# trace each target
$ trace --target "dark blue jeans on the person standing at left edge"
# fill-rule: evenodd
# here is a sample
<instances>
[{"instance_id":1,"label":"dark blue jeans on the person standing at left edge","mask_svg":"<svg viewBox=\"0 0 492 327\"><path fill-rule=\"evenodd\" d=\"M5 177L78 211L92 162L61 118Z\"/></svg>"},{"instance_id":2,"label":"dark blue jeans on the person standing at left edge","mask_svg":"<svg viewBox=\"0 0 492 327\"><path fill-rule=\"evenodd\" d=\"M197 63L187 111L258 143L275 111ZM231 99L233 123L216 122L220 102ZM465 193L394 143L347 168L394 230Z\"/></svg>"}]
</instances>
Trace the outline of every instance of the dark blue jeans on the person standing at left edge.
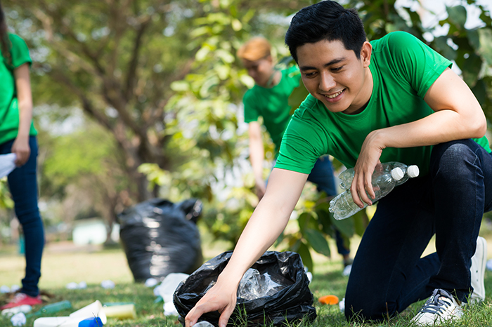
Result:
<instances>
[{"instance_id":1,"label":"dark blue jeans on the person standing at left edge","mask_svg":"<svg viewBox=\"0 0 492 327\"><path fill-rule=\"evenodd\" d=\"M2 143L0 154L10 153L12 144L13 140ZM22 225L25 238L25 278L22 279L20 291L30 296L37 296L44 247L44 228L37 206L37 140L34 136L30 137L29 145L31 147L29 160L8 175L8 187L15 203L15 215Z\"/></svg>"}]
</instances>

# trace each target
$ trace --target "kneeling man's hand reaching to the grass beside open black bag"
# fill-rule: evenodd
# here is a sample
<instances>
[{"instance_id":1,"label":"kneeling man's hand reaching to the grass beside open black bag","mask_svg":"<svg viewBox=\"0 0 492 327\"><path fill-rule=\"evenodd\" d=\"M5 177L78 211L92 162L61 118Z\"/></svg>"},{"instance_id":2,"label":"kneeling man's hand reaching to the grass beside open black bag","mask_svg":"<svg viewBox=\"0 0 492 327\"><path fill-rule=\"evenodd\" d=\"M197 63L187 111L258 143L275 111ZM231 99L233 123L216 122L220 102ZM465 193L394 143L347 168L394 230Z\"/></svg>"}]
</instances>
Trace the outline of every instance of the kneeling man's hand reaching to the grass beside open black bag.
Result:
<instances>
[{"instance_id":1,"label":"kneeling man's hand reaching to the grass beside open black bag","mask_svg":"<svg viewBox=\"0 0 492 327\"><path fill-rule=\"evenodd\" d=\"M229 317L234 311L237 300L238 286L221 283L219 280L207 291L185 317L186 327L192 327L207 312L219 311L219 327L226 327Z\"/></svg>"}]
</instances>

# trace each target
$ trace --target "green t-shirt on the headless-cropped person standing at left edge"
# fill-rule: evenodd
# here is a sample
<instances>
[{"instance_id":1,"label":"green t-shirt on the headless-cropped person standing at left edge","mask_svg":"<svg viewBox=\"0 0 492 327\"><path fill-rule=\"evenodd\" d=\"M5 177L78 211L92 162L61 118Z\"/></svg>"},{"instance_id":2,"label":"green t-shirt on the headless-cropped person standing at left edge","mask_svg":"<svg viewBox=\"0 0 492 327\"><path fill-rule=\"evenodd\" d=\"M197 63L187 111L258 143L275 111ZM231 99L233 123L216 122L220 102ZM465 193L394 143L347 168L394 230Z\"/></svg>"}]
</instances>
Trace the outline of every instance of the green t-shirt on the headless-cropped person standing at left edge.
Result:
<instances>
[{"instance_id":1,"label":"green t-shirt on the headless-cropped person standing at left edge","mask_svg":"<svg viewBox=\"0 0 492 327\"><path fill-rule=\"evenodd\" d=\"M8 34L8 38L12 44L11 65L8 65L0 53L0 144L17 138L19 130L19 107L13 69L32 62L25 41L15 34ZM37 135L32 123L30 135Z\"/></svg>"}]
</instances>

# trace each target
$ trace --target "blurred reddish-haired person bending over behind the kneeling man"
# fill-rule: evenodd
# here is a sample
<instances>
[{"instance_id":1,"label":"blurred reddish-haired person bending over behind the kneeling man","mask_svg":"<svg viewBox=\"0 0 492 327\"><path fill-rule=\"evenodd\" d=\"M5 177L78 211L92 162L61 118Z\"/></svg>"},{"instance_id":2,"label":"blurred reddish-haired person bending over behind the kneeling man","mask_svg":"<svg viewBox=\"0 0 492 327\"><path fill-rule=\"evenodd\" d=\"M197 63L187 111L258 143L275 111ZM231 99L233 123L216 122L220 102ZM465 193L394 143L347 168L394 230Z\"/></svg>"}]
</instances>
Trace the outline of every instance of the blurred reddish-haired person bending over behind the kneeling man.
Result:
<instances>
[{"instance_id":1,"label":"blurred reddish-haired person bending over behind the kneeling man","mask_svg":"<svg viewBox=\"0 0 492 327\"><path fill-rule=\"evenodd\" d=\"M277 156L283 133L292 116L288 99L294 88L299 86L301 74L296 66L276 69L271 45L261 36L243 44L238 50L238 57L255 83L245 93L242 102L245 122L249 125L250 161L255 188L258 199L261 200L265 194L266 182L263 179L264 144L258 119L259 116L263 117L263 124L275 145ZM328 156L321 156L316 160L307 180L316 185L318 192L325 192L330 197L337 195L332 163ZM342 234L337 229L335 233L338 253L342 255L344 266L347 267L352 263L350 249L344 246Z\"/></svg>"}]
</instances>

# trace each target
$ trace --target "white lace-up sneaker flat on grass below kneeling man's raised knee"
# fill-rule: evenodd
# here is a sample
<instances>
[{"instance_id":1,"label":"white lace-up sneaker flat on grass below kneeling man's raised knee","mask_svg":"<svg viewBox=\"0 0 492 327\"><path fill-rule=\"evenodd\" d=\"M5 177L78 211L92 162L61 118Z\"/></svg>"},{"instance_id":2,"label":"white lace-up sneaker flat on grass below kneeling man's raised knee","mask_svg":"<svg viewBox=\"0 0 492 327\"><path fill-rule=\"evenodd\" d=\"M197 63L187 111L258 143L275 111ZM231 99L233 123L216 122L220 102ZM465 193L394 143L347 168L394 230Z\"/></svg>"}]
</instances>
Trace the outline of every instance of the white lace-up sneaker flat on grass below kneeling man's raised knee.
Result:
<instances>
[{"instance_id":1,"label":"white lace-up sneaker flat on grass below kneeling man's raised knee","mask_svg":"<svg viewBox=\"0 0 492 327\"><path fill-rule=\"evenodd\" d=\"M455 298L447 291L436 288L412 321L417 326L432 326L434 323L459 319L462 314L461 305Z\"/></svg>"}]
</instances>

